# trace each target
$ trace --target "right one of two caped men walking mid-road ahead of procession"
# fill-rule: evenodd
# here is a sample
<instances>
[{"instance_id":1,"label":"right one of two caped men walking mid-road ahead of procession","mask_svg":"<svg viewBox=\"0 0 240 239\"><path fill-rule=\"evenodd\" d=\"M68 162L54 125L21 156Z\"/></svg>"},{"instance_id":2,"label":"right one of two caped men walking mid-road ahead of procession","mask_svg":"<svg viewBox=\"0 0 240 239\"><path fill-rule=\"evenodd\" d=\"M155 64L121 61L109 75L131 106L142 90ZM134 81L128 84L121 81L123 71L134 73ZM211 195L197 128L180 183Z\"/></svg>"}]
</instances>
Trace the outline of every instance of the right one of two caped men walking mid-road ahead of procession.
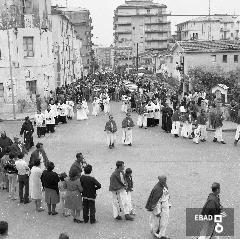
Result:
<instances>
[{"instance_id":1,"label":"right one of two caped men walking mid-road ahead of procession","mask_svg":"<svg viewBox=\"0 0 240 239\"><path fill-rule=\"evenodd\" d=\"M127 113L126 118L122 121L123 129L123 144L132 146L132 129L134 127L134 122L131 118L131 114Z\"/></svg>"}]
</instances>

